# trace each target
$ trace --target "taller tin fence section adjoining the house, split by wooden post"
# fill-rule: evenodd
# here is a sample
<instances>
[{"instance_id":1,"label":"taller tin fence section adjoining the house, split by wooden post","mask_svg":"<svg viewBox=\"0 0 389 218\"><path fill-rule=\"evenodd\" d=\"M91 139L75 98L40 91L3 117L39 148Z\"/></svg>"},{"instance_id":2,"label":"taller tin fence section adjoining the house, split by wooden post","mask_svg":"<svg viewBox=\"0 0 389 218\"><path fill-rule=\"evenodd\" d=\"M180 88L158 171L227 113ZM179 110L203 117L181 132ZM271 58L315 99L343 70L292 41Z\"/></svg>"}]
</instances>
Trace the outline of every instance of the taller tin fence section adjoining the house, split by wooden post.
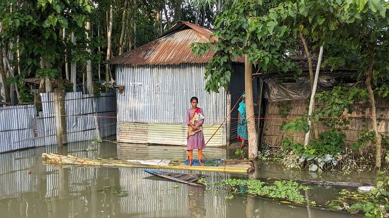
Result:
<instances>
[{"instance_id":1,"label":"taller tin fence section adjoining the house, split by wooden post","mask_svg":"<svg viewBox=\"0 0 389 218\"><path fill-rule=\"evenodd\" d=\"M41 93L42 111L36 118L36 146L56 144L54 93ZM96 137L94 116L97 110L101 137L116 134L116 94L101 93L99 97L81 92L66 93L65 110L68 142L92 140Z\"/></svg>"}]
</instances>

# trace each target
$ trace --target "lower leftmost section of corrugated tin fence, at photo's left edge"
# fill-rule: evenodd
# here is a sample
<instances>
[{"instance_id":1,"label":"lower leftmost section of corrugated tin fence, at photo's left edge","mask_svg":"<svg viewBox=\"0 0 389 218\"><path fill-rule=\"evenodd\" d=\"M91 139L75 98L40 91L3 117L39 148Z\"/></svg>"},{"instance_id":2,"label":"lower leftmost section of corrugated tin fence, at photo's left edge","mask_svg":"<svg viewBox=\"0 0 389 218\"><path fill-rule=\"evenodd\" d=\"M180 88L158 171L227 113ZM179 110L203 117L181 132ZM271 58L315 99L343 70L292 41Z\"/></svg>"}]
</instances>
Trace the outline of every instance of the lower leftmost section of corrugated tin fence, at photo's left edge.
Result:
<instances>
[{"instance_id":1,"label":"lower leftmost section of corrugated tin fence, at photo's left edge","mask_svg":"<svg viewBox=\"0 0 389 218\"><path fill-rule=\"evenodd\" d=\"M0 153L35 147L34 105L0 108Z\"/></svg>"}]
</instances>

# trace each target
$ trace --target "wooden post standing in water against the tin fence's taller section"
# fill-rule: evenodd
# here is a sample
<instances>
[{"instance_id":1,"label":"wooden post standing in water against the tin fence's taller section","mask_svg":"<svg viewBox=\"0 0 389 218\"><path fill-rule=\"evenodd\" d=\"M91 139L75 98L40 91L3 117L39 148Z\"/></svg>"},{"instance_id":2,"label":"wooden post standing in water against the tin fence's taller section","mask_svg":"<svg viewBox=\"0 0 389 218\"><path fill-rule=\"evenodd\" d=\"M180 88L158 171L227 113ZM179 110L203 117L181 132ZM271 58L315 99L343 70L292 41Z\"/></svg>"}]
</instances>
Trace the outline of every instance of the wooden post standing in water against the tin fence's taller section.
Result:
<instances>
[{"instance_id":1,"label":"wooden post standing in water against the tin fence's taller section","mask_svg":"<svg viewBox=\"0 0 389 218\"><path fill-rule=\"evenodd\" d=\"M58 147L68 143L66 138L65 94L60 89L54 90L55 130Z\"/></svg>"}]
</instances>

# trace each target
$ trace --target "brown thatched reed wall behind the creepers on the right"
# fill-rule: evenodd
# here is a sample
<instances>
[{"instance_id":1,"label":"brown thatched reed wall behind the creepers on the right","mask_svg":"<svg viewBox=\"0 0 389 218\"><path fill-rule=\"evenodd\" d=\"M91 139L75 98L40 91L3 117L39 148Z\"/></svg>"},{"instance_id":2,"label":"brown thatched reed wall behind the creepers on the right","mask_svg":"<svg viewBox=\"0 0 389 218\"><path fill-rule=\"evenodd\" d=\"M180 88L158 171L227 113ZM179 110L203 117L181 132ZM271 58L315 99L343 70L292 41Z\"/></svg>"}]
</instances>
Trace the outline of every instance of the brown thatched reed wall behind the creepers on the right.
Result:
<instances>
[{"instance_id":1,"label":"brown thatched reed wall behind the creepers on the right","mask_svg":"<svg viewBox=\"0 0 389 218\"><path fill-rule=\"evenodd\" d=\"M289 110L288 116L284 122L288 123L288 118L303 117L304 113L308 113L309 99L306 100L293 100L289 101L291 109ZM283 120L280 119L279 104L282 102L269 102L265 118L276 118L266 119L263 131L262 143L269 144L272 147L281 147L281 141L287 136L287 132L282 130ZM283 102L285 103L285 102ZM385 99L376 100L377 108L377 119L380 120L378 125L378 131L385 135L389 134L389 101ZM368 102L361 102L352 106L352 116L371 115L370 104ZM346 115L346 113L344 113ZM388 115L387 115L388 114ZM371 129L371 116L366 117L353 117L350 119L349 129L344 133L346 135L345 145L351 147L352 144L360 138L360 131L363 129ZM327 126L321 121L318 124L319 132L323 132L327 129ZM293 133L292 135L295 142L304 142L304 133ZM311 131L311 136L313 133ZM372 148L371 145L368 146Z\"/></svg>"}]
</instances>

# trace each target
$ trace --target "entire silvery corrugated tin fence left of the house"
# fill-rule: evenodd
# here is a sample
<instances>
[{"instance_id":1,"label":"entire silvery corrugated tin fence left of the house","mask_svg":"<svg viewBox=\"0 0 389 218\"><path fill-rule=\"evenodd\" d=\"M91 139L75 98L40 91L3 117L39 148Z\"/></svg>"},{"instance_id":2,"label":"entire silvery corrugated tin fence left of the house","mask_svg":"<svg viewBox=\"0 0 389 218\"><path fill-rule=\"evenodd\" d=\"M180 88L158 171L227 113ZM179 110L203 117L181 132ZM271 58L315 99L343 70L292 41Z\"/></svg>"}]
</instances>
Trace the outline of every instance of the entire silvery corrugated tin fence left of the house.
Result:
<instances>
[{"instance_id":1,"label":"entire silvery corrugated tin fence left of the house","mask_svg":"<svg viewBox=\"0 0 389 218\"><path fill-rule=\"evenodd\" d=\"M54 93L41 93L42 111L36 116L35 105L0 107L0 153L54 145L56 141ZM68 142L92 140L116 135L116 94L66 93L65 112Z\"/></svg>"}]
</instances>

